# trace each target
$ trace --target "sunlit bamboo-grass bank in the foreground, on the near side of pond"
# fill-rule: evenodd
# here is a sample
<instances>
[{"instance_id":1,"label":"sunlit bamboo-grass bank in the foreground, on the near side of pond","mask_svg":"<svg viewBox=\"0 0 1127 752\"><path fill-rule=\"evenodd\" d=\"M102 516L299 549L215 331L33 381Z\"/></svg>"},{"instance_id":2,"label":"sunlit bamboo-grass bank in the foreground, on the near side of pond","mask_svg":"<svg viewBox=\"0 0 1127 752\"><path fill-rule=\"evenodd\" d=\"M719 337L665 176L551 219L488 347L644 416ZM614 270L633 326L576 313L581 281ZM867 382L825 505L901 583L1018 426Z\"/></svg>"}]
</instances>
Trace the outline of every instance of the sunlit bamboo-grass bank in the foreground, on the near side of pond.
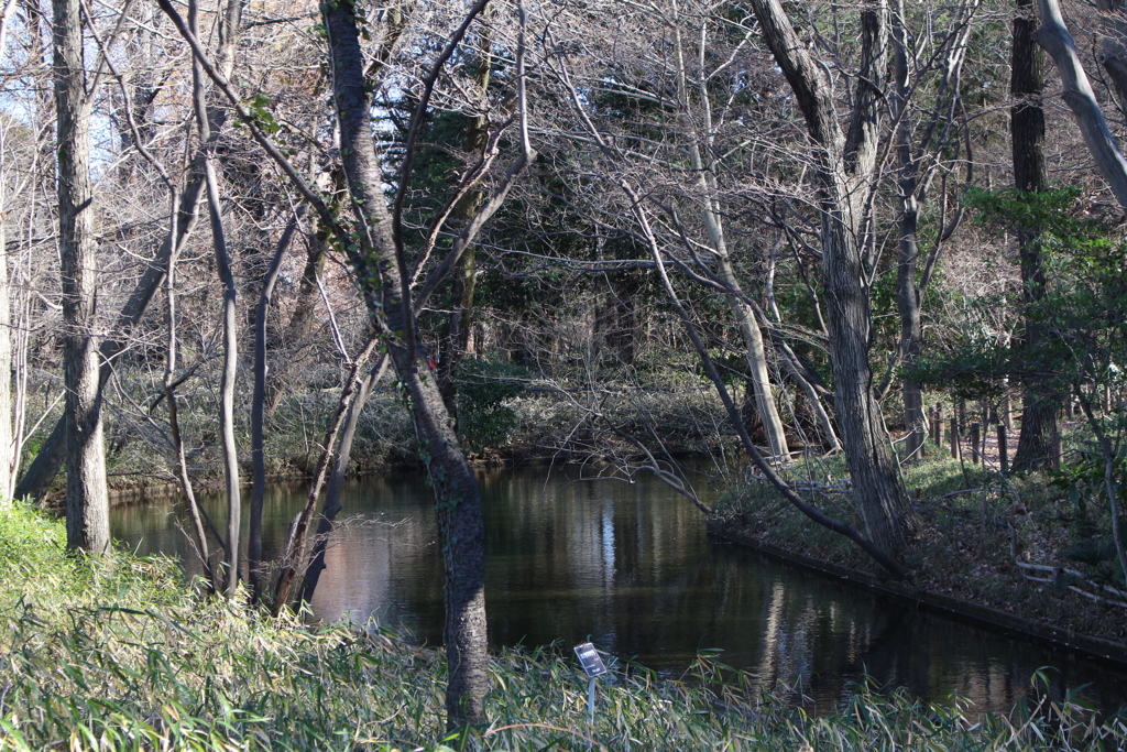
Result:
<instances>
[{"instance_id":1,"label":"sunlit bamboo-grass bank in the foreground, on the near side of pond","mask_svg":"<svg viewBox=\"0 0 1127 752\"><path fill-rule=\"evenodd\" d=\"M979 717L859 688L809 718L702 658L685 681L614 666L587 725L566 651L494 653L490 722L443 741L444 663L379 629L270 620L185 587L176 565L68 557L62 525L0 507L0 750L1115 749L1118 719L1067 702Z\"/></svg>"}]
</instances>

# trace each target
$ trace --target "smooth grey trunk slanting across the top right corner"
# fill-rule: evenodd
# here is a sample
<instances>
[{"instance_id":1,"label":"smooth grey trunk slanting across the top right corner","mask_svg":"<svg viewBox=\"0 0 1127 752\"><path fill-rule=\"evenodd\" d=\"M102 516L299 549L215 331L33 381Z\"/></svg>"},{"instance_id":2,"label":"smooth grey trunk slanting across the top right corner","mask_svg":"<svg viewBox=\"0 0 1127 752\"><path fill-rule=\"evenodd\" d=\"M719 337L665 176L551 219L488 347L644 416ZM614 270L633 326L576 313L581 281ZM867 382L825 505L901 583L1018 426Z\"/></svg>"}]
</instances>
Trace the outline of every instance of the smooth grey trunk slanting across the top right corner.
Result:
<instances>
[{"instance_id":1,"label":"smooth grey trunk slanting across the top right corner","mask_svg":"<svg viewBox=\"0 0 1127 752\"><path fill-rule=\"evenodd\" d=\"M1108 122L1095 100L1095 94L1088 81L1088 73L1081 64L1076 43L1064 25L1061 5L1057 0L1038 0L1041 27L1037 29L1037 43L1053 56L1064 92L1061 97L1076 116L1076 124L1084 136L1084 143L1095 160L1103 179L1115 194L1119 205L1127 210L1127 160L1116 142ZM1015 41L1017 43L1017 41Z\"/></svg>"}]
</instances>

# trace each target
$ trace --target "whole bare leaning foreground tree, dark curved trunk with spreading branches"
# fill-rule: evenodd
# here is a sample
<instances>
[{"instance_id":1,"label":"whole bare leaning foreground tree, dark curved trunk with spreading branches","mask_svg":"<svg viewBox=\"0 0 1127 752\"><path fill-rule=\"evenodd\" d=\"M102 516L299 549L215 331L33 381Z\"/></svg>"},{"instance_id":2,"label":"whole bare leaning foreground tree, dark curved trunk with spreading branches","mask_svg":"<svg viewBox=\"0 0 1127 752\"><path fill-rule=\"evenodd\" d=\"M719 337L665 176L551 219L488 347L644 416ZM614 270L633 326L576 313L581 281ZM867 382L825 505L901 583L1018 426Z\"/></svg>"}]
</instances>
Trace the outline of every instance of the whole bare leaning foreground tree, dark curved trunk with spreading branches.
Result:
<instances>
[{"instance_id":1,"label":"whole bare leaning foreground tree, dark curved trunk with spreading branches","mask_svg":"<svg viewBox=\"0 0 1127 752\"><path fill-rule=\"evenodd\" d=\"M340 158L348 186L350 223L335 212L319 192L296 171L256 118L243 106L230 82L211 65L198 37L184 24L168 0L160 7L174 20L177 30L189 43L196 60L207 76L228 97L239 117L248 124L256 141L283 170L295 188L309 202L319 219L331 230L335 240L349 254L357 283L373 319L388 347L389 357L409 400L411 416L420 444L420 455L427 465L435 489L440 530L443 536L446 602L446 654L450 680L446 691L447 723L461 726L483 718L483 699L488 688L487 642L485 620L485 528L481 497L472 470L458 446L435 379L427 365L426 353L417 338L417 311L458 264L461 254L473 242L482 225L505 203L513 184L525 171L535 152L527 136L523 117L524 71L523 34L516 46L518 108L522 113L522 154L499 180L481 210L454 238L447 254L438 262L412 294L402 244L402 201L409 187L411 158L423 117L429 106L438 74L458 48L470 23L485 7L477 2L443 45L423 80L419 105L412 116L403 144L399 169L399 188L389 211L382 192L383 178L375 151L370 118L371 95L365 80L357 8L347 1L322 6L328 37L332 95L340 129ZM523 14L522 14L523 18ZM458 186L456 201L483 174L469 175ZM440 212L435 231L450 214L452 203Z\"/></svg>"}]
</instances>

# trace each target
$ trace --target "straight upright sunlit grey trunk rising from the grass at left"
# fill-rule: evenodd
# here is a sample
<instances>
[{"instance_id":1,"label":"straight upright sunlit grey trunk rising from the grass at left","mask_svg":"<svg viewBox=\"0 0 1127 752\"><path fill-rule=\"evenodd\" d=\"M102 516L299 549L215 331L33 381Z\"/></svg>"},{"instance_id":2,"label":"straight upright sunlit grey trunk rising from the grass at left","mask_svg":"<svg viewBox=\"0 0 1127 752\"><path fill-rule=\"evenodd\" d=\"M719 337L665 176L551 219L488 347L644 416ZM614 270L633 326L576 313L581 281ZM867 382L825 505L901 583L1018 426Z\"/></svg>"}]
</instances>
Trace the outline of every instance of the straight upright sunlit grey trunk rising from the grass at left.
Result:
<instances>
[{"instance_id":1,"label":"straight upright sunlit grey trunk rising from the grass at left","mask_svg":"<svg viewBox=\"0 0 1127 752\"><path fill-rule=\"evenodd\" d=\"M109 548L109 495L98 390L97 247L90 186L90 96L78 0L54 0L59 255L66 389L66 547Z\"/></svg>"}]
</instances>

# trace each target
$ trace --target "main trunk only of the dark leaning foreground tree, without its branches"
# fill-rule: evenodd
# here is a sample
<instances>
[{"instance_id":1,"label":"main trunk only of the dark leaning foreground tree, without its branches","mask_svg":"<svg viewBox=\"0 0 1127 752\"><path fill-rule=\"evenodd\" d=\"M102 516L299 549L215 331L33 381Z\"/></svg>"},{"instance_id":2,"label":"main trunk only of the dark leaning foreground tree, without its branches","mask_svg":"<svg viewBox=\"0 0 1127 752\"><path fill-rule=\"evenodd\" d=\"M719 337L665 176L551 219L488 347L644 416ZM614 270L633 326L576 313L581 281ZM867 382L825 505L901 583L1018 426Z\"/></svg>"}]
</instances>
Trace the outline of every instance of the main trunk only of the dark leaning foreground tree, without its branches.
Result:
<instances>
[{"instance_id":1,"label":"main trunk only of the dark leaning foreground tree, without its branches","mask_svg":"<svg viewBox=\"0 0 1127 752\"><path fill-rule=\"evenodd\" d=\"M370 101L355 5L321 6L328 32L332 94L340 126L341 159L356 218L357 280L383 328L388 353L402 384L434 486L445 567L447 723L483 720L487 675L485 524L481 496L450 424L436 379L414 338L414 310L403 294L405 266L384 204L383 179L373 145Z\"/></svg>"}]
</instances>

